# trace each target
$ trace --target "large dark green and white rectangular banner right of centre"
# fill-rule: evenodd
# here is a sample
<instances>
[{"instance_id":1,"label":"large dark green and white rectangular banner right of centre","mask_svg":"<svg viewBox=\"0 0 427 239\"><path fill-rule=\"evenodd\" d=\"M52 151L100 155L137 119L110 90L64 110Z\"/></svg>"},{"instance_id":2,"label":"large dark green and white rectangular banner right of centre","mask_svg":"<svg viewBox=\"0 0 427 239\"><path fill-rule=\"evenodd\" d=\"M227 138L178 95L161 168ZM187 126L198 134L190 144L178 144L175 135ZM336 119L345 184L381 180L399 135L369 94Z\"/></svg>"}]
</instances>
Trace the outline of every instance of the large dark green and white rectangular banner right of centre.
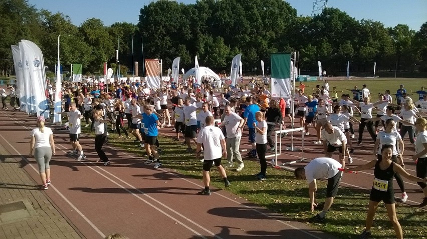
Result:
<instances>
[{"instance_id":1,"label":"large dark green and white rectangular banner right of centre","mask_svg":"<svg viewBox=\"0 0 427 239\"><path fill-rule=\"evenodd\" d=\"M271 92L273 97L290 97L291 54L271 55Z\"/></svg>"}]
</instances>

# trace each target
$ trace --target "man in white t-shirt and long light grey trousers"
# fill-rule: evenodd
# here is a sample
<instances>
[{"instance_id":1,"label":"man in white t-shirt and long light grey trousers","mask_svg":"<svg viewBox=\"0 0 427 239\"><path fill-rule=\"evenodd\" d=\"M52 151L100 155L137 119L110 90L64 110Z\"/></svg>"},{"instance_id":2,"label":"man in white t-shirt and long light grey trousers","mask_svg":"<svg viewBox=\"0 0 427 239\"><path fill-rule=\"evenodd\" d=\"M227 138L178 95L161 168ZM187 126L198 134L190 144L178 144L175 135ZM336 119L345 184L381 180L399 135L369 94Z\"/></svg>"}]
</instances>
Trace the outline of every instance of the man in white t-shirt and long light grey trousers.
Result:
<instances>
[{"instance_id":1,"label":"man in white t-shirt and long light grey trousers","mask_svg":"<svg viewBox=\"0 0 427 239\"><path fill-rule=\"evenodd\" d=\"M229 161L229 167L233 166L233 157L239 163L236 171L241 171L245 164L240 155L240 139L242 138L242 127L245 123L239 114L232 111L231 106L227 105L224 109L225 117L219 125L220 127L225 126L227 132L226 146L227 146L227 160Z\"/></svg>"}]
</instances>

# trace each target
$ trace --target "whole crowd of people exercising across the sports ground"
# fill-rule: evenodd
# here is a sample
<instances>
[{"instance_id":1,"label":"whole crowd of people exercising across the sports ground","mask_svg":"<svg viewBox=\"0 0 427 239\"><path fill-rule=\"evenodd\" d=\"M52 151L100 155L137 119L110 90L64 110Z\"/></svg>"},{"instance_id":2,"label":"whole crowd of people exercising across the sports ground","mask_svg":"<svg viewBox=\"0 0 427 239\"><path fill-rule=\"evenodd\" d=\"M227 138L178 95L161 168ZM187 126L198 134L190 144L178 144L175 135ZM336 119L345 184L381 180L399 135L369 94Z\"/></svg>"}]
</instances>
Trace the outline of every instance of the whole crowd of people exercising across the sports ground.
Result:
<instances>
[{"instance_id":1,"label":"whole crowd of people exercising across the sports ground","mask_svg":"<svg viewBox=\"0 0 427 239\"><path fill-rule=\"evenodd\" d=\"M70 130L72 150L69 153L77 155L79 160L85 158L79 143L83 121L84 127L91 127L95 133L94 147L103 165L110 164L102 150L109 134L117 132L119 137L123 137L123 132L126 138L132 134L135 146L145 149L148 157L145 163L154 163L154 168L158 168L162 165L158 130L170 127L176 133L176 140L184 138L186 152L193 152L192 142L196 144L195 154L203 163L205 186L200 194L210 195L209 170L213 164L224 178L225 186L231 184L222 165L222 157L227 158L225 167L235 167L237 171L244 169L239 148L243 131L247 131L252 145L246 156L259 159L260 172L256 177L262 181L267 178L266 151L276 151L272 132L277 126L282 125L284 128L292 122L295 126L299 123L306 135L310 134L311 126L316 134L314 143L323 145L324 157L312 160L305 168L297 168L295 175L307 179L309 183L311 210L317 206L315 179L328 178L327 200L321 213L313 218L323 221L336 195L342 170L348 170L344 169L346 157L348 164L353 162L351 138L355 137L354 123L359 123L357 144L366 140L363 137L366 128L375 142L373 154L377 157L352 169L375 168L366 229L361 238L370 236L373 215L381 200L386 204L396 234L398 237L401 235L394 210L393 177L402 192L401 201L406 201L408 197L401 178L404 176L418 182L424 193L420 206L427 205L427 120L423 118L427 116L427 92L424 87L417 91L411 90L418 96L415 101L409 97L411 94L406 92L403 85L400 85L393 97L389 90L373 95L366 84L362 89L354 86L353 89L338 91L333 87L329 91L329 83L325 80L323 85L312 87L311 94L307 92L307 85L300 82L295 89L295 98L273 98L268 79L261 82L252 79L247 84L241 82L240 86L221 88L220 92L210 81L203 82L201 85L165 82L162 88L152 89L143 82L123 81L110 84L108 90L103 84L65 83L62 89L63 114L67 115L65 125ZM52 85L48 85L52 101ZM17 94L13 86L10 88L12 105L19 98L19 92ZM350 91L351 95L344 90ZM6 91L0 93L4 108L7 108ZM13 102L12 96L15 97ZM372 98L377 100L371 101ZM291 110L292 101L295 102L294 112ZM373 115L374 108L376 116ZM355 117L355 114L360 117ZM126 125L124 119L127 120ZM39 127L31 133L31 151L35 148L42 189L47 189L50 184L49 159L51 154L55 154L55 146L52 130L44 126L45 119L38 117L37 122ZM403 140L406 134L416 153L412 156L416 161L416 177L404 170ZM332 159L336 150L339 151L339 161Z\"/></svg>"}]
</instances>

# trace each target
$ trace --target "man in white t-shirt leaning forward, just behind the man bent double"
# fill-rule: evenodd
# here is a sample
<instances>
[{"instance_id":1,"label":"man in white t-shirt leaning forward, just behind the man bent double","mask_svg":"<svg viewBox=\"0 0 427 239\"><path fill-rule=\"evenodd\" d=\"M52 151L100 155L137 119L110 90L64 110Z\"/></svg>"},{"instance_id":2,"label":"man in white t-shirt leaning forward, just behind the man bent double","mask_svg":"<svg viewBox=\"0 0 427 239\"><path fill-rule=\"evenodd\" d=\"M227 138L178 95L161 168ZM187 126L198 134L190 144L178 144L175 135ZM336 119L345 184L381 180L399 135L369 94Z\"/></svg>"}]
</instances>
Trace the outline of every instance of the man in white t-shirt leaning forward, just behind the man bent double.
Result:
<instances>
[{"instance_id":1,"label":"man in white t-shirt leaning forward, just behind the man bent double","mask_svg":"<svg viewBox=\"0 0 427 239\"><path fill-rule=\"evenodd\" d=\"M325 157L332 157L334 151L338 149L340 162L344 167L345 144L347 144L347 138L344 132L342 132L338 127L332 126L331 123L326 123L325 126L323 126L321 135L323 140L323 149L325 150Z\"/></svg>"}]
</instances>

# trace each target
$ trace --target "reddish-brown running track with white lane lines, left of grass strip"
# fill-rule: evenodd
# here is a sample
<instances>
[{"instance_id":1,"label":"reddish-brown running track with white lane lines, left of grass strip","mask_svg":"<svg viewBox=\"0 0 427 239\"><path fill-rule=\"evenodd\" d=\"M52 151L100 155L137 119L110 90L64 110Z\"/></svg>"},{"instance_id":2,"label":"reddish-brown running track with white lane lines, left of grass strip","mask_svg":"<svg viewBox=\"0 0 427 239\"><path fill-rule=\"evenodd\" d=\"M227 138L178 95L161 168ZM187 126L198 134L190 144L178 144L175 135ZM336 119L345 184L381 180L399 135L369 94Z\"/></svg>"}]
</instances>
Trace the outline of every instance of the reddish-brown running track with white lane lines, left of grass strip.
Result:
<instances>
[{"instance_id":1,"label":"reddish-brown running track with white lane lines, left of grass strip","mask_svg":"<svg viewBox=\"0 0 427 239\"><path fill-rule=\"evenodd\" d=\"M26 158L33 127L35 117L0 112L0 144L9 152L5 156L20 161L39 182L34 158ZM52 128L57 154L51 160L53 184L45 193L86 238L112 232L129 238L334 238L226 190L196 195L203 188L201 181L166 166L153 169L122 150L107 147L112 163L99 166L89 137L81 139L88 161L77 161L66 154L68 131ZM162 133L169 130L163 128Z\"/></svg>"}]
</instances>

